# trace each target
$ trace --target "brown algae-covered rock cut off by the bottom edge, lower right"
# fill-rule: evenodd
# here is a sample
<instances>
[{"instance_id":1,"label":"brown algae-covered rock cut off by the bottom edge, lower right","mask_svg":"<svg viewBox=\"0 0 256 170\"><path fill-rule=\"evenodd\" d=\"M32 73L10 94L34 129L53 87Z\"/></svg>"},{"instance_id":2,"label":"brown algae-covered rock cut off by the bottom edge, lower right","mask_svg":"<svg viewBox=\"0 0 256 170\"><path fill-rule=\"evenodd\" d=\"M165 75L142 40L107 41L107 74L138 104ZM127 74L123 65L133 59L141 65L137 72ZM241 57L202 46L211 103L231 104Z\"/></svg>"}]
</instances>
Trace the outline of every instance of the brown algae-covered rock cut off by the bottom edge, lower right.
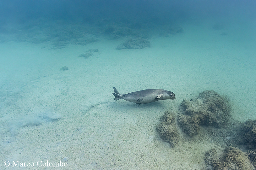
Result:
<instances>
[{"instance_id":1,"label":"brown algae-covered rock cut off by the bottom edge, lower right","mask_svg":"<svg viewBox=\"0 0 256 170\"><path fill-rule=\"evenodd\" d=\"M209 150L205 163L213 170L254 170L247 154L235 147L228 147L222 156L218 156L215 149Z\"/></svg>"}]
</instances>

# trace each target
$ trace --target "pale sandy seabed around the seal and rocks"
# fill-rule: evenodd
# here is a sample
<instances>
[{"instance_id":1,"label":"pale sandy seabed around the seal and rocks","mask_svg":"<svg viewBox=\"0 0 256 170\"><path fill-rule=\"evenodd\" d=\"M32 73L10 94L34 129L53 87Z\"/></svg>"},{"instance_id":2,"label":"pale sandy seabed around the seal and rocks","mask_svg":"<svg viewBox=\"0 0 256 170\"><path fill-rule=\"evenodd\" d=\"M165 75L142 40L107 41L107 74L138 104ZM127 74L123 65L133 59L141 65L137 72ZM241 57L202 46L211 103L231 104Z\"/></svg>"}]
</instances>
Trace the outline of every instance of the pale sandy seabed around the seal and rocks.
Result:
<instances>
[{"instance_id":1,"label":"pale sandy seabed around the seal and rocks","mask_svg":"<svg viewBox=\"0 0 256 170\"><path fill-rule=\"evenodd\" d=\"M37 161L63 158L67 167L55 169L204 169L205 152L220 146L198 135L170 148L155 126L165 111L177 112L183 99L203 90L227 95L233 119L256 119L255 38L241 28L205 24L152 37L144 49L116 50L122 40L61 49L1 43L1 169L6 160L6 169L17 169L12 161L18 160L35 163L23 169L43 169ZM94 48L92 57L78 57ZM166 89L176 100L114 101L113 86L123 94Z\"/></svg>"}]
</instances>

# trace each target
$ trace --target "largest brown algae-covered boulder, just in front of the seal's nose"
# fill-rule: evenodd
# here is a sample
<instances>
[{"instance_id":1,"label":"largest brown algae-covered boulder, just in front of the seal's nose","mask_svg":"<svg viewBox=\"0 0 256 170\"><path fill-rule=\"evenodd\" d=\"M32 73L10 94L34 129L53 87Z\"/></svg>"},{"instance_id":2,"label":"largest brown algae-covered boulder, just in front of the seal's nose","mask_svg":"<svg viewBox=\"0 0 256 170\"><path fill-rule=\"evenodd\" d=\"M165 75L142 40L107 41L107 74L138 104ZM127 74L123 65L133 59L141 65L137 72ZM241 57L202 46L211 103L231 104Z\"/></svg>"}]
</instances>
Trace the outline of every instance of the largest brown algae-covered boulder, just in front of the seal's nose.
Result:
<instances>
[{"instance_id":1,"label":"largest brown algae-covered boulder, just in front of the seal's nose","mask_svg":"<svg viewBox=\"0 0 256 170\"><path fill-rule=\"evenodd\" d=\"M199 125L224 127L230 117L230 104L226 97L213 90L206 90L197 99L183 100L180 105L178 122L185 134L195 135Z\"/></svg>"}]
</instances>

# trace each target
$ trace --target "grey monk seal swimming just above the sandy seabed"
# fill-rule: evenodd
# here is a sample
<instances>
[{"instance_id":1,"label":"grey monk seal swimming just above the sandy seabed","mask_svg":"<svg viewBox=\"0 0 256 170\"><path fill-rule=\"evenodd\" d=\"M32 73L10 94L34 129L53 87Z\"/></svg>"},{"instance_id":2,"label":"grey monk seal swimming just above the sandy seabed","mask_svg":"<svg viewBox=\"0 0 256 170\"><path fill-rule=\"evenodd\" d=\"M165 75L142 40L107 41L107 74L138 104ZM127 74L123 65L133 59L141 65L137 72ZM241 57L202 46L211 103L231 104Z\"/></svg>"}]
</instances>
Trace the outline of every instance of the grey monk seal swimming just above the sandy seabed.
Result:
<instances>
[{"instance_id":1,"label":"grey monk seal swimming just above the sandy seabed","mask_svg":"<svg viewBox=\"0 0 256 170\"><path fill-rule=\"evenodd\" d=\"M112 94L115 96L114 100L124 99L126 101L137 103L139 105L151 103L158 100L175 99L175 95L173 92L163 89L147 89L127 94L120 94L118 90L116 90L116 88L114 87L114 93Z\"/></svg>"}]
</instances>

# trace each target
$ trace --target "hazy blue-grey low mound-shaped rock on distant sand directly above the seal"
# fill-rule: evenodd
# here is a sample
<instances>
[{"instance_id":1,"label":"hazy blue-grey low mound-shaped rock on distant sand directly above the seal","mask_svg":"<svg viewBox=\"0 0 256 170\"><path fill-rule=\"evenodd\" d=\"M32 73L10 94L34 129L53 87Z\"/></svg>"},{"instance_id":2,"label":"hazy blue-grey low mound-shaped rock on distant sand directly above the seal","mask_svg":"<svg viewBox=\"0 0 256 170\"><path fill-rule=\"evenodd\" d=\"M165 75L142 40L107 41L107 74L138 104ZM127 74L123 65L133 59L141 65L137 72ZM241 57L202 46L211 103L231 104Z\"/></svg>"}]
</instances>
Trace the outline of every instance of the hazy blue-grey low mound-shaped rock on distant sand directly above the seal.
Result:
<instances>
[{"instance_id":1,"label":"hazy blue-grey low mound-shaped rock on distant sand directly above the seal","mask_svg":"<svg viewBox=\"0 0 256 170\"><path fill-rule=\"evenodd\" d=\"M150 42L148 39L141 37L128 39L125 42L121 43L116 49L142 49L145 47L150 47Z\"/></svg>"}]
</instances>

